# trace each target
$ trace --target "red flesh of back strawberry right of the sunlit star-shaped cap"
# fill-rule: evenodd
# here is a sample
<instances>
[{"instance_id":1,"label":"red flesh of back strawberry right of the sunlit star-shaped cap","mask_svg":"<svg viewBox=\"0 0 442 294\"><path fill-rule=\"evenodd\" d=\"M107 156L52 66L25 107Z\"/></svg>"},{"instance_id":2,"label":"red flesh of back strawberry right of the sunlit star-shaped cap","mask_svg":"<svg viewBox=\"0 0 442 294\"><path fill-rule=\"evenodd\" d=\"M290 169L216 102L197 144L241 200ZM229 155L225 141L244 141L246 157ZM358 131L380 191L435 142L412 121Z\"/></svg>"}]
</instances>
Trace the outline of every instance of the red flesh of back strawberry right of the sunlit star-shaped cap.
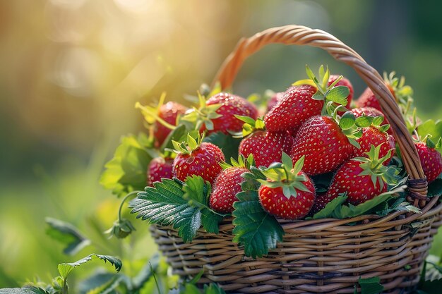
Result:
<instances>
[{"instance_id":1,"label":"red flesh of back strawberry right of the sunlit star-shaped cap","mask_svg":"<svg viewBox=\"0 0 442 294\"><path fill-rule=\"evenodd\" d=\"M220 131L229 134L229 131L241 131L243 122L236 118L235 115L249 116L253 119L258 117L258 109L256 109L255 105L242 97L229 93L216 94L210 97L205 104L208 106L220 104L220 107L215 111L218 116L211 119L213 130L210 130L210 133Z\"/></svg>"}]
</instances>

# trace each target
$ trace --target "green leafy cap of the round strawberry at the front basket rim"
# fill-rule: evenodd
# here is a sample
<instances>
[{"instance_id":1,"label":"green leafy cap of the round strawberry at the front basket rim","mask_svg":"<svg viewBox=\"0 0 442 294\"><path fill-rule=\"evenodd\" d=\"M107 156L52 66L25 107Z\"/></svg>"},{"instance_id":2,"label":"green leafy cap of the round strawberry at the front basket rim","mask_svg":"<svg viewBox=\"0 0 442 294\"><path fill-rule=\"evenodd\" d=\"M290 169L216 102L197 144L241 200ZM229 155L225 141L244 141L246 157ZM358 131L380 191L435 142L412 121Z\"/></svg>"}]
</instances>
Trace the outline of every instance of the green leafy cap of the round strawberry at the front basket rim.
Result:
<instances>
[{"instance_id":1,"label":"green leafy cap of the round strawberry at the front basket rim","mask_svg":"<svg viewBox=\"0 0 442 294\"><path fill-rule=\"evenodd\" d=\"M281 187L282 193L287 198L297 197L298 191L312 192L304 185L307 178L301 173L302 166L304 166L304 156L293 164L292 159L282 152L282 163L274 162L268 168L260 168L267 180L258 179L258 182L269 188Z\"/></svg>"}]
</instances>

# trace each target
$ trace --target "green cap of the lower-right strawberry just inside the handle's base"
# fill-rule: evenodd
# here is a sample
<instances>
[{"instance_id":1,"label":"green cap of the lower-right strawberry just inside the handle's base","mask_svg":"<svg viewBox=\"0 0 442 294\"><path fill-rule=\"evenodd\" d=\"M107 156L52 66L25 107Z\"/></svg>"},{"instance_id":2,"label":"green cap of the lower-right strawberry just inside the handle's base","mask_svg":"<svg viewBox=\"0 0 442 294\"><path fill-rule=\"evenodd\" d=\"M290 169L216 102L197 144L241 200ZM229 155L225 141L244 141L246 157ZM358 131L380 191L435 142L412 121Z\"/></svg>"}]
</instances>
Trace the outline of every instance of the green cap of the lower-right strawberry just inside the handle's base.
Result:
<instances>
[{"instance_id":1,"label":"green cap of the lower-right strawberry just inside the handle's base","mask_svg":"<svg viewBox=\"0 0 442 294\"><path fill-rule=\"evenodd\" d=\"M382 143L383 144L383 143ZM381 145L382 145L381 144ZM395 185L398 183L400 169L395 166L384 166L383 163L391 157L391 150L388 150L386 156L379 158L381 145L371 145L370 151L366 152L369 158L355 157L353 160L361 162L359 166L364 170L359 176L370 176L373 185L379 182L379 188L382 189L383 184Z\"/></svg>"}]
</instances>

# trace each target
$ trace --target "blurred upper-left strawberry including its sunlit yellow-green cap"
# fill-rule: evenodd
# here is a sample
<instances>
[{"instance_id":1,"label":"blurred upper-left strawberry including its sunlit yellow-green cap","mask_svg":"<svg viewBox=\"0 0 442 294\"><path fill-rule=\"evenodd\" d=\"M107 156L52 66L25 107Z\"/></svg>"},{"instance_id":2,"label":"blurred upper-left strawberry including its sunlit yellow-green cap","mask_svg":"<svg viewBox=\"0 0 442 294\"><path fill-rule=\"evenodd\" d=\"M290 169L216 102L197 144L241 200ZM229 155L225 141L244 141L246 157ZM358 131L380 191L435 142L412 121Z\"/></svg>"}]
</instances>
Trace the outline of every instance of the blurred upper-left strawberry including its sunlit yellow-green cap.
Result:
<instances>
[{"instance_id":1,"label":"blurred upper-left strawberry including its sunlit yellow-green cap","mask_svg":"<svg viewBox=\"0 0 442 294\"><path fill-rule=\"evenodd\" d=\"M160 147L165 142L169 133L177 126L179 116L186 113L187 108L177 102L165 101L166 94L160 97L160 102L156 107L142 106L139 102L135 107L141 109L145 120L153 127L153 136L155 137L155 147Z\"/></svg>"}]
</instances>

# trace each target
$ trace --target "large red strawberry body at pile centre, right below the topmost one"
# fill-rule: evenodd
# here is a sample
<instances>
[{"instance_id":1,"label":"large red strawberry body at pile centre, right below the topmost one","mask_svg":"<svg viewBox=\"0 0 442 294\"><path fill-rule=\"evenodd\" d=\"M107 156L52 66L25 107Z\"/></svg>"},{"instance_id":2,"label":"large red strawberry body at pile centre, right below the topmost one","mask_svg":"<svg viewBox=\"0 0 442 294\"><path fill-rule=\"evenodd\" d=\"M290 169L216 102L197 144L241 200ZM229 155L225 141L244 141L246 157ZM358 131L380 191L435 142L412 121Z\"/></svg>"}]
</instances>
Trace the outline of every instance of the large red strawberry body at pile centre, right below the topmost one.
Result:
<instances>
[{"instance_id":1,"label":"large red strawberry body at pile centre, right below the topmost one","mask_svg":"<svg viewBox=\"0 0 442 294\"><path fill-rule=\"evenodd\" d=\"M335 170L353 152L353 145L333 118L313 116L299 128L290 155L293 162L305 156L303 171L314 176Z\"/></svg>"}]
</instances>

